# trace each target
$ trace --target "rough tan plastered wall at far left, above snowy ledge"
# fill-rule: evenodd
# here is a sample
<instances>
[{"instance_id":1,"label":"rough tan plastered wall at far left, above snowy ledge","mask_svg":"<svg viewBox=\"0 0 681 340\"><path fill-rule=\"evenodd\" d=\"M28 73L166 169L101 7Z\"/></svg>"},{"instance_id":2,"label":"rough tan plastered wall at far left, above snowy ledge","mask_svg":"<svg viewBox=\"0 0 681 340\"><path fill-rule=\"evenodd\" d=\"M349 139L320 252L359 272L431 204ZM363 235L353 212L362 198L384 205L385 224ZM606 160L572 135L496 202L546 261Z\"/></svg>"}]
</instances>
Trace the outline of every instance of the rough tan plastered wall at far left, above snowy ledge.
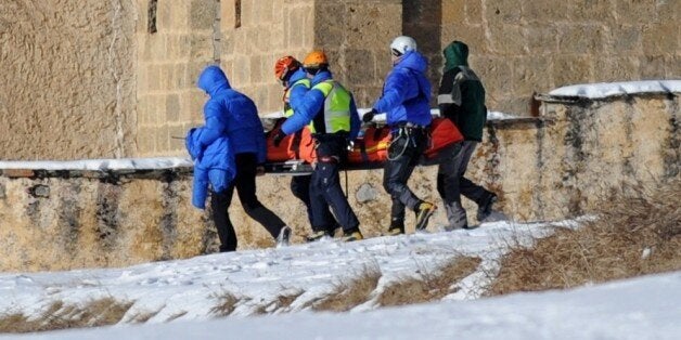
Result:
<instances>
[{"instance_id":1,"label":"rough tan plastered wall at far left, above snowy ledge","mask_svg":"<svg viewBox=\"0 0 681 340\"><path fill-rule=\"evenodd\" d=\"M0 1L0 159L136 154L130 0Z\"/></svg>"}]
</instances>

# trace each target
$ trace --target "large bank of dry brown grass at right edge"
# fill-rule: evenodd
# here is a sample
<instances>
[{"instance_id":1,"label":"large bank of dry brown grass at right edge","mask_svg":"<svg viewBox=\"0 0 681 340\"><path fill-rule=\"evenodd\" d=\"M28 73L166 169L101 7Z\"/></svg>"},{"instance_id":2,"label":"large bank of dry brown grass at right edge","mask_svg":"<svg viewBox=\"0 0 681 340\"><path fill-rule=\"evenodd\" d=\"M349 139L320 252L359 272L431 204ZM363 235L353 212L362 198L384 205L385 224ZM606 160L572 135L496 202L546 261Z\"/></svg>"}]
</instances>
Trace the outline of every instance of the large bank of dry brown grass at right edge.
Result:
<instances>
[{"instance_id":1,"label":"large bank of dry brown grass at right edge","mask_svg":"<svg viewBox=\"0 0 681 340\"><path fill-rule=\"evenodd\" d=\"M681 270L681 180L627 186L578 230L557 228L501 262L489 295L569 288Z\"/></svg>"}]
</instances>

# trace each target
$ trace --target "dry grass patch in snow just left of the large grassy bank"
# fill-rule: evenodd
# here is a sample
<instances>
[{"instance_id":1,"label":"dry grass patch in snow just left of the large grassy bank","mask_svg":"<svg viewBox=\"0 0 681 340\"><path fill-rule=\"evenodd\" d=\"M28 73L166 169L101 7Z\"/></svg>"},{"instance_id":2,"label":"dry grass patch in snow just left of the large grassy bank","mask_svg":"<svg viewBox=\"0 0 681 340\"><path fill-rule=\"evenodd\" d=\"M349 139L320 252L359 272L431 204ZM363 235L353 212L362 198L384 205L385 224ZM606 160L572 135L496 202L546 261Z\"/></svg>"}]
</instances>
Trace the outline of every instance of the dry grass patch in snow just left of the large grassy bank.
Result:
<instances>
[{"instance_id":1,"label":"dry grass patch in snow just left of the large grassy bank","mask_svg":"<svg viewBox=\"0 0 681 340\"><path fill-rule=\"evenodd\" d=\"M454 292L452 286L473 274L480 261L480 258L457 257L433 272L422 270L419 277L409 277L386 286L376 302L389 306L440 300Z\"/></svg>"}]
</instances>

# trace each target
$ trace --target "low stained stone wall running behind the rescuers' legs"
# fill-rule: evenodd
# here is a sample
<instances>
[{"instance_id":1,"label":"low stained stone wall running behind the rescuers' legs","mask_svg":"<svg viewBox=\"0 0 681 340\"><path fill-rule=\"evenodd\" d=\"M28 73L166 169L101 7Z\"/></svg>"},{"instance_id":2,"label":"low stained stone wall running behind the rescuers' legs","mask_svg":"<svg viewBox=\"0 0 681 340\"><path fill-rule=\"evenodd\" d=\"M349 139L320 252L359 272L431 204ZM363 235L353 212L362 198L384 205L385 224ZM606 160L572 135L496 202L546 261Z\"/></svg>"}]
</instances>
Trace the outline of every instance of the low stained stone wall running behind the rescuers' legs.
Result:
<instances>
[{"instance_id":1,"label":"low stained stone wall running behind the rescuers' legs","mask_svg":"<svg viewBox=\"0 0 681 340\"><path fill-rule=\"evenodd\" d=\"M489 123L467 176L497 192L497 208L513 220L565 219L588 212L622 182L679 176L680 148L678 92L547 100L539 117ZM190 205L187 158L0 162L0 271L124 266L217 249L210 211ZM389 223L382 174L348 173L349 200L369 237ZM436 174L437 167L420 167L410 185L439 202ZM287 176L259 178L258 197L300 243L309 226L288 185ZM475 223L475 205L464 206ZM446 223L442 208L432 231ZM230 215L240 249L273 245L236 198Z\"/></svg>"}]
</instances>

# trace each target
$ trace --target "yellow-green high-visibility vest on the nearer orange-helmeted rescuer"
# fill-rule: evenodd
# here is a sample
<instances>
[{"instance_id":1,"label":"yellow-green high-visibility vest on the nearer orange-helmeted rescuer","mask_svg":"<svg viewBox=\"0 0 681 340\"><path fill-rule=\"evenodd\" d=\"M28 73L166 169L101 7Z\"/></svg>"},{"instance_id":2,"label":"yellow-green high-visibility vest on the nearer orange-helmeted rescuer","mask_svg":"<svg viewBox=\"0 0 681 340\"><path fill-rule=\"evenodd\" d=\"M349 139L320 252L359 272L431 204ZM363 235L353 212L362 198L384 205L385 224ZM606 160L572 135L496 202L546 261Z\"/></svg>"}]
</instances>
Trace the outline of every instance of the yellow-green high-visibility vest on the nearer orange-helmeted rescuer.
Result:
<instances>
[{"instance_id":1,"label":"yellow-green high-visibility vest on the nearer orange-helmeted rescuer","mask_svg":"<svg viewBox=\"0 0 681 340\"><path fill-rule=\"evenodd\" d=\"M350 132L350 92L333 79L322 81L312 90L320 90L324 94L322 112L310 122L312 133Z\"/></svg>"}]
</instances>

